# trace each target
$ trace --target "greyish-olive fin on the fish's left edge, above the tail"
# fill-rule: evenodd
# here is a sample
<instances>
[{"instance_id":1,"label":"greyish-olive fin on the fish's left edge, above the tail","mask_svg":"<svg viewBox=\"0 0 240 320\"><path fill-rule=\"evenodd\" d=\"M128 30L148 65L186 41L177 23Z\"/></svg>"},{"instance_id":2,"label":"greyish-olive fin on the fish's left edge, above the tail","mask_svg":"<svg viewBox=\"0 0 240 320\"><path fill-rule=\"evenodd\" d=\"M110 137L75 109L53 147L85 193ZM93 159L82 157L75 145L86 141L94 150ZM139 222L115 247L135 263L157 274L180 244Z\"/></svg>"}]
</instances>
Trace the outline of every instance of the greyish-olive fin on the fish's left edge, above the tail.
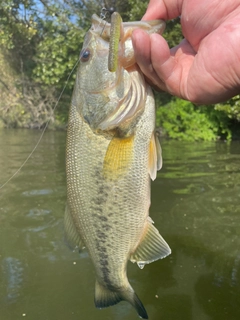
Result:
<instances>
[{"instance_id":1,"label":"greyish-olive fin on the fish's left edge, above the tail","mask_svg":"<svg viewBox=\"0 0 240 320\"><path fill-rule=\"evenodd\" d=\"M80 235L76 229L76 226L74 224L73 218L67 205L64 215L64 231L65 240L72 250L76 248L84 249L84 244L80 239Z\"/></svg>"}]
</instances>

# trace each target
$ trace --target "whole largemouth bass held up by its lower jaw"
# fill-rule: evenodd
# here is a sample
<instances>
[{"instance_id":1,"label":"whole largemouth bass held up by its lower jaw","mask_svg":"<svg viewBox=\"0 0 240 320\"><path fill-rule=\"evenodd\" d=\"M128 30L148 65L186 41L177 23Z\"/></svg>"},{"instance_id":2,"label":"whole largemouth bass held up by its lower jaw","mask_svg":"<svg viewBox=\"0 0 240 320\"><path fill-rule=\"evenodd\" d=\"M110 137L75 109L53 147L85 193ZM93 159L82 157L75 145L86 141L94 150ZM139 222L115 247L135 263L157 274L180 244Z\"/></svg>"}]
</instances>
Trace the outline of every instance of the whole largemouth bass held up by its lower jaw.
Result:
<instances>
[{"instance_id":1,"label":"whole largemouth bass held up by its lower jaw","mask_svg":"<svg viewBox=\"0 0 240 320\"><path fill-rule=\"evenodd\" d=\"M65 234L92 260L95 306L125 300L148 319L127 264L142 269L171 249L149 217L150 183L162 155L153 93L135 62L131 34L162 33L165 23L114 21L94 14L80 54L67 128Z\"/></svg>"}]
</instances>

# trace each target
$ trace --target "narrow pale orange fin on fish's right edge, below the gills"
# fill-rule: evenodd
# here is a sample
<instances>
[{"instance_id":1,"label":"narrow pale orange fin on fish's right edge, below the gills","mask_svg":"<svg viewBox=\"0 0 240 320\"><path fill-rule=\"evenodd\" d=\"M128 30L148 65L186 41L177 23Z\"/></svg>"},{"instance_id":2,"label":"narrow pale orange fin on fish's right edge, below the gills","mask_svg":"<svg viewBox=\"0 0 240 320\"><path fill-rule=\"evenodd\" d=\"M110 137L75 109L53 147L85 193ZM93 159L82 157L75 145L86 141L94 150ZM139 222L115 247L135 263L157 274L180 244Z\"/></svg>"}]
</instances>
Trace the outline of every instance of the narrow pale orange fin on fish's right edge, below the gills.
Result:
<instances>
[{"instance_id":1,"label":"narrow pale orange fin on fish's right edge, below the gills","mask_svg":"<svg viewBox=\"0 0 240 320\"><path fill-rule=\"evenodd\" d=\"M152 138L149 144L149 175L152 180L157 177L157 171L162 168L162 149L156 134L152 133Z\"/></svg>"}]
</instances>

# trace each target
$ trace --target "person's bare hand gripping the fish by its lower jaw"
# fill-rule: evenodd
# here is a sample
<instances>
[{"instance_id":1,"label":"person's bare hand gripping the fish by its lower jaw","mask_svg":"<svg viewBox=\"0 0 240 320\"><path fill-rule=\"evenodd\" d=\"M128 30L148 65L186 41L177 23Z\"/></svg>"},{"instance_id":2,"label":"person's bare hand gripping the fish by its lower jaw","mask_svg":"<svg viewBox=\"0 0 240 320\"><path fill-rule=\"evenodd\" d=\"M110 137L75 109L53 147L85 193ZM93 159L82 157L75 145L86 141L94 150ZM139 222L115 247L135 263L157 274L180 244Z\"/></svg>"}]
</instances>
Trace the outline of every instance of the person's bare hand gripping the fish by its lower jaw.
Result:
<instances>
[{"instance_id":1,"label":"person's bare hand gripping the fish by its lower jaw","mask_svg":"<svg viewBox=\"0 0 240 320\"><path fill-rule=\"evenodd\" d=\"M154 87L198 104L240 93L240 0L150 0L143 20L181 16L184 40L135 30L136 61Z\"/></svg>"}]
</instances>

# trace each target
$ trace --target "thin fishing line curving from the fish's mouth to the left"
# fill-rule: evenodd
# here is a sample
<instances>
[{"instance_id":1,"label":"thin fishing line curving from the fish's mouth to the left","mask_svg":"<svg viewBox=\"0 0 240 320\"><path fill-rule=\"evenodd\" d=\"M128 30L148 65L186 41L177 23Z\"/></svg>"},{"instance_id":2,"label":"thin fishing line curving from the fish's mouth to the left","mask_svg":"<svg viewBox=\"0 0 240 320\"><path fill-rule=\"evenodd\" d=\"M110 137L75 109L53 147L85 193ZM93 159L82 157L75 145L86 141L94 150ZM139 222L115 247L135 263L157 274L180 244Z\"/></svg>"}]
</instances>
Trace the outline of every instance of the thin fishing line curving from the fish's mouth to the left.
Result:
<instances>
[{"instance_id":1,"label":"thin fishing line curving from the fish's mouth to the left","mask_svg":"<svg viewBox=\"0 0 240 320\"><path fill-rule=\"evenodd\" d=\"M107 18L107 15L108 15L108 14L109 14L109 11L108 11L106 8L102 8L101 13L100 13L100 18L101 18L102 20L105 20L105 19ZM104 28L105 28L106 23L107 23L107 21L105 21L105 24L104 24L104 26L103 26L103 30L102 30L101 34L102 34L103 31L104 31ZM100 26L100 24L101 24L101 23L99 22L98 27ZM69 81L71 75L73 74L73 71L76 69L76 67L77 67L80 59L82 58L82 55L84 54L83 50L88 47L89 43L90 43L90 40L89 40L89 42L86 44L85 48L82 49L82 52L80 53L80 56L79 56L77 62L75 63L75 65L73 66L71 72L69 73L69 75L68 75L68 77L67 77L67 80L66 80L66 83L65 83L65 85L64 85L64 87L63 87L63 89L62 89L62 91L61 91L61 93L60 93L60 95L59 95L59 97L58 97L55 105L54 105L53 113L55 112L55 110L56 110L56 108L57 108L57 105L58 105L58 103L59 103L59 101L60 101L60 99L61 99L61 97L62 97L62 95L63 95L63 92L64 92L65 89L66 89L66 86L67 86L67 84L68 84L68 81ZM34 147L34 148L32 149L32 151L30 152L30 154L29 154L29 155L27 156L27 158L23 161L23 163L21 164L21 166L13 173L13 175L12 175L6 182L4 182L2 185L0 185L0 190L1 190L2 188L4 188L4 187L22 170L22 168L25 166L25 164L27 163L27 161L31 158L31 156L33 155L33 153L35 152L35 150L36 150L37 147L39 146L39 144L40 144L40 142L41 142L41 140L42 140L42 137L43 137L45 131L47 130L47 127L48 127L50 121L51 121L51 120L49 119L49 120L47 121L47 123L45 124L45 126L44 126L44 128L43 128L43 131L41 132L40 137L39 137L39 139L38 139L35 147Z\"/></svg>"}]
</instances>

